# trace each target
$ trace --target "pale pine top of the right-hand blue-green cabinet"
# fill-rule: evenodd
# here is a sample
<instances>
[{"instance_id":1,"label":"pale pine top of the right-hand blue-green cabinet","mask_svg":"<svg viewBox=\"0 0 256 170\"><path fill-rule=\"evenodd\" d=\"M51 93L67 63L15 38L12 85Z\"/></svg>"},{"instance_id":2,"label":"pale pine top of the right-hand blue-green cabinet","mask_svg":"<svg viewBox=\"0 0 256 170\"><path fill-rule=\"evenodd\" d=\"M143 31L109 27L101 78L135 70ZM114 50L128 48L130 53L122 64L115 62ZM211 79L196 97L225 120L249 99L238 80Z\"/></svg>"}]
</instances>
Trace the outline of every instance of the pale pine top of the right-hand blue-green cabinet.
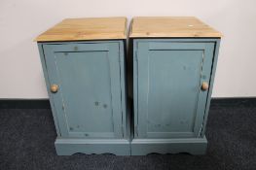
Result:
<instances>
[{"instance_id":1,"label":"pale pine top of the right-hand blue-green cabinet","mask_svg":"<svg viewBox=\"0 0 256 170\"><path fill-rule=\"evenodd\" d=\"M222 37L197 17L133 17L130 38Z\"/></svg>"}]
</instances>

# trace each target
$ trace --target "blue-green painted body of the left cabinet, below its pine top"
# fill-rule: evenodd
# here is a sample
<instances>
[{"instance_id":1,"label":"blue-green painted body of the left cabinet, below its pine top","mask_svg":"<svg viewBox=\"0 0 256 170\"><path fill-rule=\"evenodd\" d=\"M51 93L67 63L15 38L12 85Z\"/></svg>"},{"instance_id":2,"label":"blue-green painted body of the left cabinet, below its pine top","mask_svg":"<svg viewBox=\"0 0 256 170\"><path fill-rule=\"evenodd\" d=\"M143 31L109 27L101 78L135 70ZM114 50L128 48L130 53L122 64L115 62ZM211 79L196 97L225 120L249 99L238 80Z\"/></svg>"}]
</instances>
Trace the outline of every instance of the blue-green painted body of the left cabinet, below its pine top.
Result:
<instances>
[{"instance_id":1,"label":"blue-green painted body of the left cabinet, below its pine top","mask_svg":"<svg viewBox=\"0 0 256 170\"><path fill-rule=\"evenodd\" d=\"M39 48L59 131L57 153L129 154L124 42L42 43ZM53 84L56 93L49 90ZM115 147L119 142L123 153Z\"/></svg>"}]
</instances>

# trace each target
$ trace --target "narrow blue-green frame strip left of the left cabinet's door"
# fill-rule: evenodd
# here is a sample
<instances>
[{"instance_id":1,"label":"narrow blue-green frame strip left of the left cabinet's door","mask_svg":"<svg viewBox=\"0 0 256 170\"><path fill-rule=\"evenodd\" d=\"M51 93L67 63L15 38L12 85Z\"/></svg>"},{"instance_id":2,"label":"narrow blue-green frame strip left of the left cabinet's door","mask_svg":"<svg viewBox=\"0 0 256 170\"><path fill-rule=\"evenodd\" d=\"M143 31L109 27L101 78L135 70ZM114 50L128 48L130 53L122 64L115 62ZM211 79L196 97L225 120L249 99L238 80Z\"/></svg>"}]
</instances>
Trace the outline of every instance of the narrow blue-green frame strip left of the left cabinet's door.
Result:
<instances>
[{"instance_id":1,"label":"narrow blue-green frame strip left of the left cabinet's door","mask_svg":"<svg viewBox=\"0 0 256 170\"><path fill-rule=\"evenodd\" d=\"M46 66L46 61L45 61L45 53L44 53L42 43L38 43L38 50L39 50L39 54L40 54L40 60L41 60L41 64L42 64L42 68L43 68L43 72L44 72L45 83L46 83L46 86L47 86L47 91L48 91L50 104L51 104L51 108L52 108L52 113L53 113L53 117L54 117L54 120L55 120L56 134L57 134L57 136L61 136L60 131L59 131L57 117L56 117L56 112L55 112L54 100L50 97L50 93L51 93L50 88L49 88L50 82L49 82L49 78L48 78L47 66Z\"/></svg>"}]
</instances>

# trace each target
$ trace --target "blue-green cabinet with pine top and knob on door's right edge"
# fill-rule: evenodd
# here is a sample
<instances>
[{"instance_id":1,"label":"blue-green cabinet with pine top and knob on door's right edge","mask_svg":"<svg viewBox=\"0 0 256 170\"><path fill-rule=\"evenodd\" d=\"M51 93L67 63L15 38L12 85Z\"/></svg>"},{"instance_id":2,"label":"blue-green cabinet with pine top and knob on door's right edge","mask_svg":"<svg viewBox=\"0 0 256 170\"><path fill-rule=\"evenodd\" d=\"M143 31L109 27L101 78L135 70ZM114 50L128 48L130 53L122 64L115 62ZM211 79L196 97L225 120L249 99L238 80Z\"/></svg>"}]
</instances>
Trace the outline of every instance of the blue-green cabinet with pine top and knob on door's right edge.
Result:
<instances>
[{"instance_id":1,"label":"blue-green cabinet with pine top and knob on door's right edge","mask_svg":"<svg viewBox=\"0 0 256 170\"><path fill-rule=\"evenodd\" d=\"M196 17L134 17L131 154L205 153L221 34Z\"/></svg>"}]
</instances>

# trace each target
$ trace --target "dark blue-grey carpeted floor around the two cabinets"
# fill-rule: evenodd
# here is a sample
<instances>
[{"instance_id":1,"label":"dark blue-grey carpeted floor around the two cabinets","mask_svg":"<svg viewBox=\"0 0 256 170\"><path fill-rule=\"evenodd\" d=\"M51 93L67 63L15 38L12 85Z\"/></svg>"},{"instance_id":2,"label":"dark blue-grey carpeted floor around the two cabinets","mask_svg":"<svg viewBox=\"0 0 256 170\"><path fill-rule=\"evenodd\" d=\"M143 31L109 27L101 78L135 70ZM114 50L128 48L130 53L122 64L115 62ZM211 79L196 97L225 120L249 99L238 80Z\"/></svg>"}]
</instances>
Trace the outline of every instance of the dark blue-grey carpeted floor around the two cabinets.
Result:
<instances>
[{"instance_id":1,"label":"dark blue-grey carpeted floor around the two cabinets","mask_svg":"<svg viewBox=\"0 0 256 170\"><path fill-rule=\"evenodd\" d=\"M55 153L55 125L49 109L0 110L1 170L255 170L256 104L212 104L207 123L205 155Z\"/></svg>"}]
</instances>

